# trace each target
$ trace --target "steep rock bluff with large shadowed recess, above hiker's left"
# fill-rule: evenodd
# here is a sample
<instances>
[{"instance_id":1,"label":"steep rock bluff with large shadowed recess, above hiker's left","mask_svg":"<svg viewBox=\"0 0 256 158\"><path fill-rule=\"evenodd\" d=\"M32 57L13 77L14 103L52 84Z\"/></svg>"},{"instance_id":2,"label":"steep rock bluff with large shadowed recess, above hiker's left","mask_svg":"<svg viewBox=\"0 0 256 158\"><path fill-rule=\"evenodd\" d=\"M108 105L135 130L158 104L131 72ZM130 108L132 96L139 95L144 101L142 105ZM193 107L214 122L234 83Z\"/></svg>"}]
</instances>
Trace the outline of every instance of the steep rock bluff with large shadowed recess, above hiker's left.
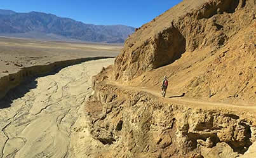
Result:
<instances>
[{"instance_id":1,"label":"steep rock bluff with large shadowed recess, above hiker's left","mask_svg":"<svg viewBox=\"0 0 256 158\"><path fill-rule=\"evenodd\" d=\"M185 38L172 26L151 37L139 48L132 47L133 44L129 44L128 49L123 50L123 55L116 58L116 79L123 76L124 80L129 81L137 74L172 63L185 52Z\"/></svg>"}]
</instances>

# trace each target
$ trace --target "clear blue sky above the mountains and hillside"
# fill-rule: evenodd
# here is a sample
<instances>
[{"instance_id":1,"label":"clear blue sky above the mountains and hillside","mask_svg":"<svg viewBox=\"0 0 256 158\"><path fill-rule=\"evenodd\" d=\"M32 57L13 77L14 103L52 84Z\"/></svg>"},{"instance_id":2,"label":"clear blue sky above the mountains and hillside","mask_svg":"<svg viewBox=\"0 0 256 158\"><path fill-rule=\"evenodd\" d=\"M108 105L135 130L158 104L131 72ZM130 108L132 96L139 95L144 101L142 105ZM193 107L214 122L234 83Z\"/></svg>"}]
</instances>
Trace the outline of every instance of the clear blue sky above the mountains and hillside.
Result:
<instances>
[{"instance_id":1,"label":"clear blue sky above the mountains and hillside","mask_svg":"<svg viewBox=\"0 0 256 158\"><path fill-rule=\"evenodd\" d=\"M96 25L140 27L182 0L1 0L0 9L41 11Z\"/></svg>"}]
</instances>

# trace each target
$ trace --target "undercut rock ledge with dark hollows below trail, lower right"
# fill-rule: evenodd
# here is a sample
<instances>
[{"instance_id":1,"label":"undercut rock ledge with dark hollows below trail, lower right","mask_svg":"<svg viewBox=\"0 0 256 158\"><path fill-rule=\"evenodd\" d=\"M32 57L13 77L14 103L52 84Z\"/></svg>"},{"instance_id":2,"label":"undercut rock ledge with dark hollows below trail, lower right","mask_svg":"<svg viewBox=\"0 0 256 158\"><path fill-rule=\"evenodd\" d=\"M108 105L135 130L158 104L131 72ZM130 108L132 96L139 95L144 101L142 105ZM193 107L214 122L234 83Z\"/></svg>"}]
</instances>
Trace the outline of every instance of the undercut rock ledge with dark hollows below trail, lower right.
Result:
<instances>
[{"instance_id":1,"label":"undercut rock ledge with dark hollows below trail, lower right","mask_svg":"<svg viewBox=\"0 0 256 158\"><path fill-rule=\"evenodd\" d=\"M243 154L252 145L252 131L248 122L239 119L238 115L216 112L185 112L180 122L187 122L187 130L179 130L191 140L191 147L197 143L205 147L213 147L218 142L226 142L234 152ZM183 128L184 129L184 128Z\"/></svg>"}]
</instances>

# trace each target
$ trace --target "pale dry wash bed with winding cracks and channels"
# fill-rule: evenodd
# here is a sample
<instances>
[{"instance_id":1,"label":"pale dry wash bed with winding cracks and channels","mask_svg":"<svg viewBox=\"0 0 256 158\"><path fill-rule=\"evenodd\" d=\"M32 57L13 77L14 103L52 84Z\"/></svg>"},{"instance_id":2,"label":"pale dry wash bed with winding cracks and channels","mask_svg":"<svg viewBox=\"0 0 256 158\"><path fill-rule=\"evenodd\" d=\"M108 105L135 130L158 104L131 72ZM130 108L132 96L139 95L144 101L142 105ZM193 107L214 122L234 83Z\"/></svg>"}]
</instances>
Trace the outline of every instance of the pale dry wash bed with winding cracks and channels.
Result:
<instances>
[{"instance_id":1,"label":"pale dry wash bed with winding cracks and channels","mask_svg":"<svg viewBox=\"0 0 256 158\"><path fill-rule=\"evenodd\" d=\"M84 157L93 143L87 129L83 107L91 95L91 76L114 58L73 65L57 74L30 79L15 90L13 102L0 109L0 157ZM76 131L84 134L76 135ZM79 141L78 141L79 140Z\"/></svg>"}]
</instances>

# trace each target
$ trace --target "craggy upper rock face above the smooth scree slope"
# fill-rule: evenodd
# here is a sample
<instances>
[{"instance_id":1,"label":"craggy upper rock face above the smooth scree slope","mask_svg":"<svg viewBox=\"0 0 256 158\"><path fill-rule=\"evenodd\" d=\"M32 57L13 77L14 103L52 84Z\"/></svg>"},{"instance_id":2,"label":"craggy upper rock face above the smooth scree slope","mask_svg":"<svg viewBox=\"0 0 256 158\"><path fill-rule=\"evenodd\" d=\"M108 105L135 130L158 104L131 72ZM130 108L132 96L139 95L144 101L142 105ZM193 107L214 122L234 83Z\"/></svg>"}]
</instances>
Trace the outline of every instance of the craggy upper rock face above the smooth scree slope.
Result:
<instances>
[{"instance_id":1,"label":"craggy upper rock face above the smooth scree slope","mask_svg":"<svg viewBox=\"0 0 256 158\"><path fill-rule=\"evenodd\" d=\"M128 37L115 61L115 78L130 81L185 51L219 49L253 18L253 0L183 1Z\"/></svg>"}]
</instances>

